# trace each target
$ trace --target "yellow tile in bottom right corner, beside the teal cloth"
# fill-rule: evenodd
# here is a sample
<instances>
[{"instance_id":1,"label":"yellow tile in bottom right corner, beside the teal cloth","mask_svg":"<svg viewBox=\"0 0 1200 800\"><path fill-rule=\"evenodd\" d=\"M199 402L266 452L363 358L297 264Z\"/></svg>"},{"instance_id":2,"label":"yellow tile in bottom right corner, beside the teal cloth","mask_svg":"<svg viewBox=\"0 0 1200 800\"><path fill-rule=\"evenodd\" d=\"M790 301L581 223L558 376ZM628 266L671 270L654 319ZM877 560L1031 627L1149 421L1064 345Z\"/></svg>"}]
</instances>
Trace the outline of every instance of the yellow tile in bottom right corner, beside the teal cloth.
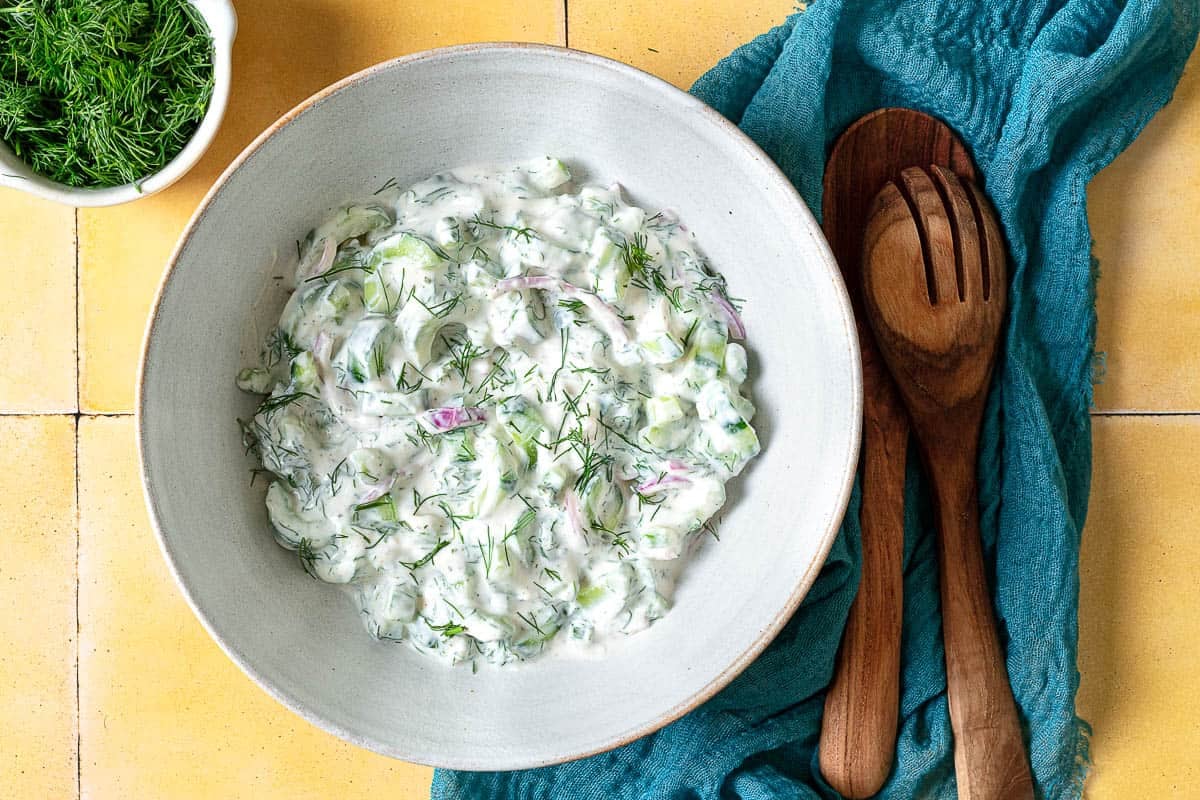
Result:
<instances>
[{"instance_id":1,"label":"yellow tile in bottom right corner, beside the teal cloth","mask_svg":"<svg viewBox=\"0 0 1200 800\"><path fill-rule=\"evenodd\" d=\"M1194 798L1200 783L1200 417L1094 421L1079 710L1091 800Z\"/></svg>"}]
</instances>

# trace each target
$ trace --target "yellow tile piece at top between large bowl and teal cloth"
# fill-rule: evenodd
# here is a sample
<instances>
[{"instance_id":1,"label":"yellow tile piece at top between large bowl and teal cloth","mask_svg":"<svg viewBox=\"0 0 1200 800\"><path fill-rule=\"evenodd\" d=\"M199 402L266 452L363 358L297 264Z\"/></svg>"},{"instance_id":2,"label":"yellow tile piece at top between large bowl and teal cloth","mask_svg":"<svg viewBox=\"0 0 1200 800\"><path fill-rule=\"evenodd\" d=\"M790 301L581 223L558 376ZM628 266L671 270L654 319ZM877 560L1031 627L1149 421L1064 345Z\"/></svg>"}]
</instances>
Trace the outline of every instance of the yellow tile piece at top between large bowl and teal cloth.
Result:
<instances>
[{"instance_id":1,"label":"yellow tile piece at top between large bowl and teal cloth","mask_svg":"<svg viewBox=\"0 0 1200 800\"><path fill-rule=\"evenodd\" d=\"M570 46L686 89L710 66L796 8L796 0L569 0Z\"/></svg>"}]
</instances>

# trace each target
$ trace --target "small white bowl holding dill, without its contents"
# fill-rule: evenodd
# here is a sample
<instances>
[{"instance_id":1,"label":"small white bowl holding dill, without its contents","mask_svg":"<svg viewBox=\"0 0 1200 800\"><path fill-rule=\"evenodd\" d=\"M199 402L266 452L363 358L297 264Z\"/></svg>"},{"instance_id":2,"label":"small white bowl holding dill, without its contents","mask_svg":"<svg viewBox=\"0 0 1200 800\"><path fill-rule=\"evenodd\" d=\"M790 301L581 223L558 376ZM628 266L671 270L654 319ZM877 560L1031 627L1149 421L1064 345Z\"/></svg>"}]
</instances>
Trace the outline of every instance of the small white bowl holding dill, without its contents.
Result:
<instances>
[{"instance_id":1,"label":"small white bowl holding dill, without its contents","mask_svg":"<svg viewBox=\"0 0 1200 800\"><path fill-rule=\"evenodd\" d=\"M212 138L221 127L226 103L229 101L229 72L233 40L238 34L238 14L232 0L190 0L204 17L212 35L212 100L209 110L196 128L187 145L174 158L154 175L125 186L109 188L78 188L65 186L38 175L29 166L13 155L4 142L0 142L0 186L29 192L47 200L54 200L77 207L95 207L102 205L120 205L130 200L161 192L196 166L204 151L212 144Z\"/></svg>"}]
</instances>

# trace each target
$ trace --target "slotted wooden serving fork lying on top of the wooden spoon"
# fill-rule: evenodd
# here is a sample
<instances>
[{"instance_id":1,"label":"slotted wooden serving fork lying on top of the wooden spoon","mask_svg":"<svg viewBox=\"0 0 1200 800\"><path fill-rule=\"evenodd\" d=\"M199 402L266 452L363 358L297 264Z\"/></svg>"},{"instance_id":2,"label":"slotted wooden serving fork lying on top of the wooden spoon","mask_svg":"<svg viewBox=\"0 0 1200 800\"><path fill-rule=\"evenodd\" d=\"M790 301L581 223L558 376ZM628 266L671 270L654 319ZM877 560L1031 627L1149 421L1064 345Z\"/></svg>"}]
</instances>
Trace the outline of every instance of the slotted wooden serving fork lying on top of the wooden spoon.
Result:
<instances>
[{"instance_id":1,"label":"slotted wooden serving fork lying on top of the wooden spoon","mask_svg":"<svg viewBox=\"0 0 1200 800\"><path fill-rule=\"evenodd\" d=\"M1032 799L979 539L976 462L1007 299L1003 239L970 181L906 169L875 199L863 294L937 506L946 679L959 796Z\"/></svg>"}]
</instances>

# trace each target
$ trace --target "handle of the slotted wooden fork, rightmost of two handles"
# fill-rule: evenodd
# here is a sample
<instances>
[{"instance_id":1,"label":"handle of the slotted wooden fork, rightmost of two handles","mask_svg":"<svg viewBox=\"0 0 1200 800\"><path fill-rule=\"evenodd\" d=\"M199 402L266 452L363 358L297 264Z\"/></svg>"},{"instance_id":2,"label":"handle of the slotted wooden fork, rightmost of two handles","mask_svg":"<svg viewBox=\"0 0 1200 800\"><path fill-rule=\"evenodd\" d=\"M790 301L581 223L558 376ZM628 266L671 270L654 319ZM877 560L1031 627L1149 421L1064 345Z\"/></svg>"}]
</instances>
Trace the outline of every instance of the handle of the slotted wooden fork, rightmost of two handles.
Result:
<instances>
[{"instance_id":1,"label":"handle of the slotted wooden fork, rightmost of two handles","mask_svg":"<svg viewBox=\"0 0 1200 800\"><path fill-rule=\"evenodd\" d=\"M930 464L938 516L946 680L964 800L1032 800L1016 703L984 572L974 453Z\"/></svg>"}]
</instances>

